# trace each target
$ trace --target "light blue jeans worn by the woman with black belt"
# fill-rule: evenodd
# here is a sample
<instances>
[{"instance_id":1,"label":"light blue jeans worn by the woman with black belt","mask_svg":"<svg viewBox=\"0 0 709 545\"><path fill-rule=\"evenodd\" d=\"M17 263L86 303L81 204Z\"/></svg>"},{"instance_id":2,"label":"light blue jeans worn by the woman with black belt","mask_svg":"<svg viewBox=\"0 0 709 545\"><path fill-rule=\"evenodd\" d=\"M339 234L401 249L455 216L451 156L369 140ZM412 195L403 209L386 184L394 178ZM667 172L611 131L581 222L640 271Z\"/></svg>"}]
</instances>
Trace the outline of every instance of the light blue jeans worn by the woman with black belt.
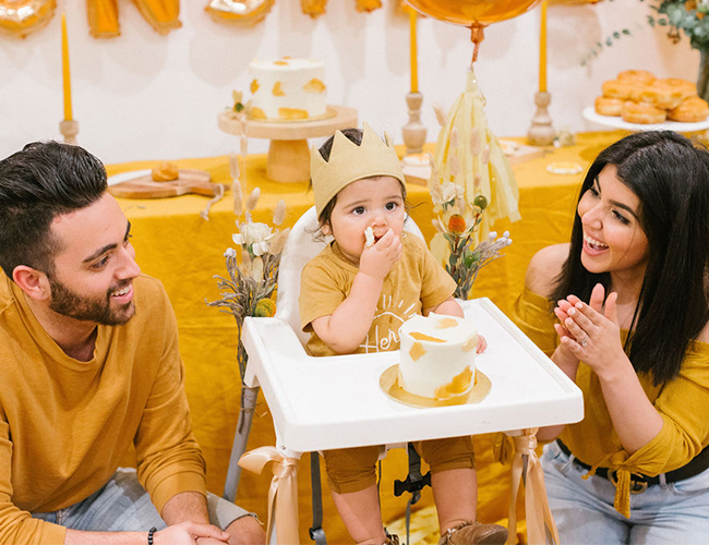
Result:
<instances>
[{"instance_id":1,"label":"light blue jeans worn by the woman with black belt","mask_svg":"<svg viewBox=\"0 0 709 545\"><path fill-rule=\"evenodd\" d=\"M613 508L615 486L574 463L556 441L541 458L549 505L562 545L707 543L709 470L630 495L630 518Z\"/></svg>"}]
</instances>

